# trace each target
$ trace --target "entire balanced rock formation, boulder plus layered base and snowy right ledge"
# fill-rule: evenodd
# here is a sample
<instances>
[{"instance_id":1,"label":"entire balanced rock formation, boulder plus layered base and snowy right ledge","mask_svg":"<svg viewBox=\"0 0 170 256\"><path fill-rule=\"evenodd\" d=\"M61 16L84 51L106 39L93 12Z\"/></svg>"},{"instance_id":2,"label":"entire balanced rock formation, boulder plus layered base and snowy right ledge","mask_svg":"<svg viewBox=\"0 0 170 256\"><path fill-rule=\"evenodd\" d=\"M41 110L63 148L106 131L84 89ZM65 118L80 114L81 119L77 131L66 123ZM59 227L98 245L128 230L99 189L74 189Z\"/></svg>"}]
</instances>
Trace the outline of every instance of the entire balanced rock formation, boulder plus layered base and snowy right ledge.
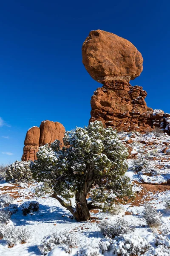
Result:
<instances>
[{"instance_id":1,"label":"entire balanced rock formation, boulder plus layered base and snowy right ledge","mask_svg":"<svg viewBox=\"0 0 170 256\"><path fill-rule=\"evenodd\" d=\"M102 30L91 31L82 46L82 61L93 79L103 84L91 97L91 119L118 131L170 133L170 114L153 111L145 102L147 92L129 81L142 72L143 58L124 38Z\"/></svg>"}]
</instances>

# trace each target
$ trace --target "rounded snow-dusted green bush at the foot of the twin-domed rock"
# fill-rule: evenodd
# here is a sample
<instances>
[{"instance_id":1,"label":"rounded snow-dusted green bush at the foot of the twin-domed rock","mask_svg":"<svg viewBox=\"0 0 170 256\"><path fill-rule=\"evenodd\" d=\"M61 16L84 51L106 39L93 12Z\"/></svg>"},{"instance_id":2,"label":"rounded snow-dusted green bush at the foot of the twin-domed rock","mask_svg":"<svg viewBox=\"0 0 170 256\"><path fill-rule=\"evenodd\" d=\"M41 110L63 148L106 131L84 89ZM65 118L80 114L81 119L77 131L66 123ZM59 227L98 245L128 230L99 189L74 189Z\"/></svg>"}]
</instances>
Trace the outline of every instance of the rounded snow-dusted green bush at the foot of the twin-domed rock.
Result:
<instances>
[{"instance_id":1,"label":"rounded snow-dusted green bush at the foot of the twin-domed rock","mask_svg":"<svg viewBox=\"0 0 170 256\"><path fill-rule=\"evenodd\" d=\"M7 182L31 182L32 172L30 169L31 161L15 161L6 170Z\"/></svg>"}]
</instances>

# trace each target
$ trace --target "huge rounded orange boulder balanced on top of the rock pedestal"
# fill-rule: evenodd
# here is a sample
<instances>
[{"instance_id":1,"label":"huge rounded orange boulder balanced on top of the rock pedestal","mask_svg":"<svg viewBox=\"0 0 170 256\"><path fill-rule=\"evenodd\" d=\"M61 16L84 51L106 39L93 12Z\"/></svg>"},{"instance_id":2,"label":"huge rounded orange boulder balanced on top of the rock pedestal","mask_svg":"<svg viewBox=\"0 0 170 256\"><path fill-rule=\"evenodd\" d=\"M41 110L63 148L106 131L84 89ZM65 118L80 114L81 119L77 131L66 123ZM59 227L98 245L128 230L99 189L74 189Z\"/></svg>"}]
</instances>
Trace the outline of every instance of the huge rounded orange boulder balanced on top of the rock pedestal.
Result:
<instances>
[{"instance_id":1,"label":"huge rounded orange boulder balanced on top of the rock pedestal","mask_svg":"<svg viewBox=\"0 0 170 256\"><path fill-rule=\"evenodd\" d=\"M103 30L93 30L82 46L82 62L91 77L104 80L133 80L143 70L143 58L126 39Z\"/></svg>"}]
</instances>

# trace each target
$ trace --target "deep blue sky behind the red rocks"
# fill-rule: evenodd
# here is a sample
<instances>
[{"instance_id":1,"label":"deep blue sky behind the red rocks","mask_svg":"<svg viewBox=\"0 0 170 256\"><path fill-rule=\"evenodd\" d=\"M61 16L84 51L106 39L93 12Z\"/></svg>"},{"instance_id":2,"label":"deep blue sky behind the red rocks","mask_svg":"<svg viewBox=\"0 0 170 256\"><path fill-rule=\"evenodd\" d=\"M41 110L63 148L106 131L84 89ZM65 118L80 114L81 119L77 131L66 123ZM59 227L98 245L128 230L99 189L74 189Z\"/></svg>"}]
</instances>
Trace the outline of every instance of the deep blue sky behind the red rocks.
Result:
<instances>
[{"instance_id":1,"label":"deep blue sky behind the red rocks","mask_svg":"<svg viewBox=\"0 0 170 256\"><path fill-rule=\"evenodd\" d=\"M132 42L144 70L132 85L147 105L170 113L169 0L5 0L0 3L0 163L20 160L26 131L48 119L66 130L88 125L101 84L82 64L89 32Z\"/></svg>"}]
</instances>

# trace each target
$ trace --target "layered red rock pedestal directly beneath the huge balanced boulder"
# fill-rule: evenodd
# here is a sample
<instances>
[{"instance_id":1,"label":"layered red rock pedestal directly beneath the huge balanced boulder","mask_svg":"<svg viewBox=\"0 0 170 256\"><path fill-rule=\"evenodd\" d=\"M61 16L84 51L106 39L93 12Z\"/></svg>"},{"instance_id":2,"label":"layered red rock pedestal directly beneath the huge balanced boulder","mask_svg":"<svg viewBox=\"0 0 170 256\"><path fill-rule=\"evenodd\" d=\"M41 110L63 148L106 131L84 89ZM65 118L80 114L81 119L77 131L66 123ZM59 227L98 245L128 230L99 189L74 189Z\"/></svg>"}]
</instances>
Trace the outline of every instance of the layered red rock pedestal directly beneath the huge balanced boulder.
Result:
<instances>
[{"instance_id":1,"label":"layered red rock pedestal directly beneath the huge balanced boulder","mask_svg":"<svg viewBox=\"0 0 170 256\"><path fill-rule=\"evenodd\" d=\"M91 97L91 119L118 131L150 131L153 109L145 102L146 91L127 81L105 81Z\"/></svg>"}]
</instances>

